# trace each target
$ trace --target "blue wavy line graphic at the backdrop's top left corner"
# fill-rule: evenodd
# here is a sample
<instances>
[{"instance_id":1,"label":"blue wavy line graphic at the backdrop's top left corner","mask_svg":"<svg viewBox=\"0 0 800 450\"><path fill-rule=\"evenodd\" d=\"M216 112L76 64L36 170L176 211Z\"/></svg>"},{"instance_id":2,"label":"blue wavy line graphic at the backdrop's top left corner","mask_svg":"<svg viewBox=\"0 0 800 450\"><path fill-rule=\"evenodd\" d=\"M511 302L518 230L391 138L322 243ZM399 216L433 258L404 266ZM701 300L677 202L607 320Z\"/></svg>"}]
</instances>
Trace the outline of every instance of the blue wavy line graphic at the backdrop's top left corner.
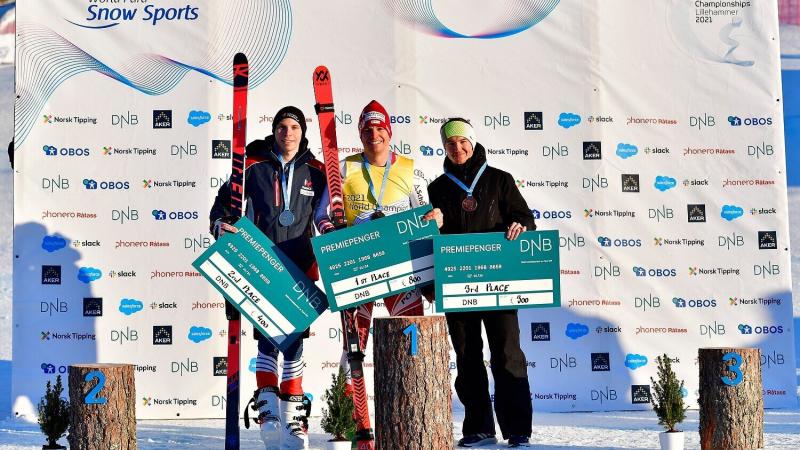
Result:
<instances>
[{"instance_id":1,"label":"blue wavy line graphic at the backdrop's top left corner","mask_svg":"<svg viewBox=\"0 0 800 450\"><path fill-rule=\"evenodd\" d=\"M281 65L292 37L290 0L226 2L208 35L208 54L192 65L160 54L133 55L112 68L55 31L35 24L17 29L16 141L30 133L47 100L71 77L98 72L146 95L162 95L192 71L232 85L233 55L250 63L250 88L266 81ZM103 30L87 30L103 33ZM99 36L99 35L98 35ZM197 43L202 45L204 43Z\"/></svg>"}]
</instances>

